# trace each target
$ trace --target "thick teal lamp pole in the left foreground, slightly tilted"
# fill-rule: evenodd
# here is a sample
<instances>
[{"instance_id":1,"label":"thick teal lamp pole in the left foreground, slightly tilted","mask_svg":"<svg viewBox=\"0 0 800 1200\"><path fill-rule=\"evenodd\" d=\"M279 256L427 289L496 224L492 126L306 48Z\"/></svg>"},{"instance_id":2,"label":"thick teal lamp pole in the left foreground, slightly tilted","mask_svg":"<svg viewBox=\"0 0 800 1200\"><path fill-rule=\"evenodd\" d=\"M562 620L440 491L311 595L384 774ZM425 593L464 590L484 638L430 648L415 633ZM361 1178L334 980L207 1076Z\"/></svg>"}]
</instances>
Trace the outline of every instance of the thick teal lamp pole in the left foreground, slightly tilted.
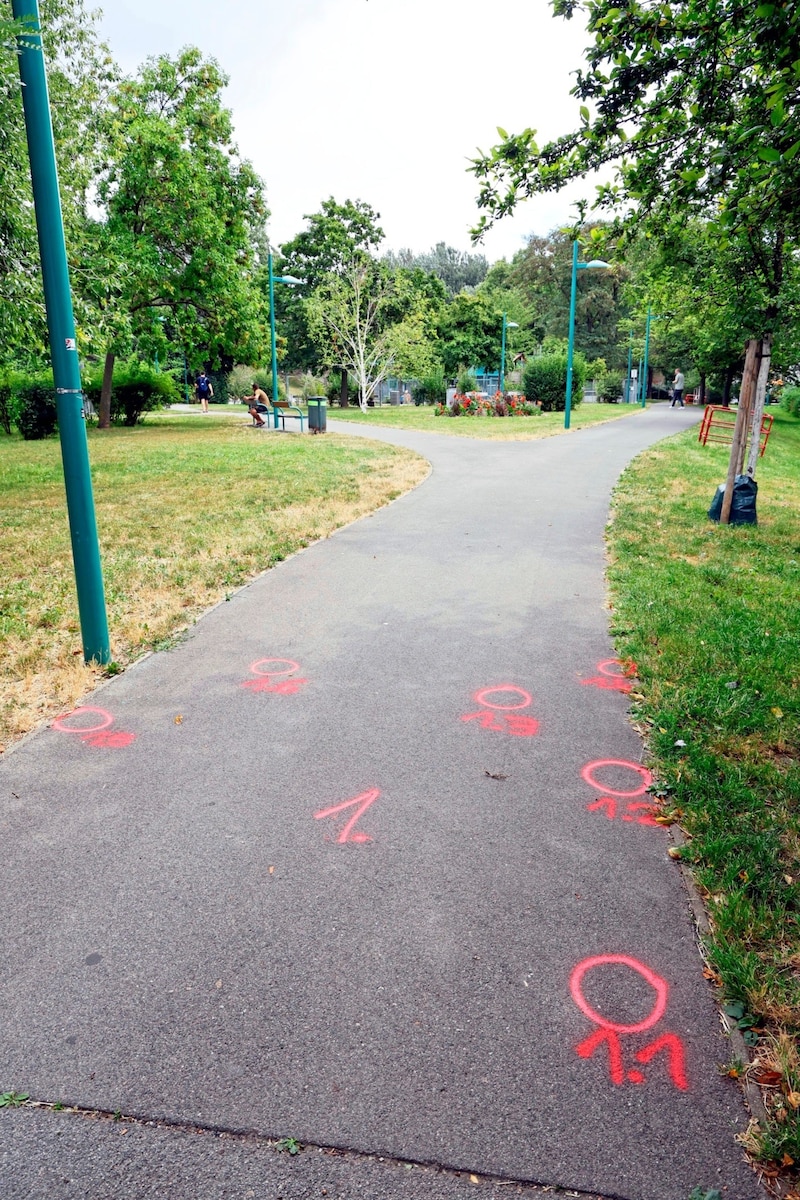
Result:
<instances>
[{"instance_id":1,"label":"thick teal lamp pole in the left foreground, slightly tilted","mask_svg":"<svg viewBox=\"0 0 800 1200\"><path fill-rule=\"evenodd\" d=\"M50 102L44 73L37 0L12 0L12 13L25 25L18 37L28 155L42 262L44 306L55 380L61 460L67 496L72 559L78 590L83 653L86 662L112 656L100 563L97 522L83 418L83 390L55 166Z\"/></svg>"}]
</instances>

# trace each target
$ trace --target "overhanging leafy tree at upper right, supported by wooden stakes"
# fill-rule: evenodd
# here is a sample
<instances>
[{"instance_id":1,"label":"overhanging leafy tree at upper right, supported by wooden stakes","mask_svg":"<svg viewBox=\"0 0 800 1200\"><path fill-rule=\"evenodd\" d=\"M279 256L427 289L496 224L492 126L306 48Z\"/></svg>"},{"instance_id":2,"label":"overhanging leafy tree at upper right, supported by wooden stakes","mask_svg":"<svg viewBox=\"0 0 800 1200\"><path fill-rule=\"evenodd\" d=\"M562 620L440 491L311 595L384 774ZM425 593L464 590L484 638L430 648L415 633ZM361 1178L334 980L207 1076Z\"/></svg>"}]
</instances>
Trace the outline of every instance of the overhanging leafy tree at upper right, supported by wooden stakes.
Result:
<instances>
[{"instance_id":1,"label":"overhanging leafy tree at upper right, supported by wooden stakes","mask_svg":"<svg viewBox=\"0 0 800 1200\"><path fill-rule=\"evenodd\" d=\"M541 150L533 130L500 131L503 142L471 167L487 210L475 234L523 197L615 164L597 206L624 208L628 226L646 218L656 229L699 215L722 247L735 245L763 296L750 340L769 361L800 238L796 6L554 0L567 18L579 7L594 35L573 89L581 127ZM753 421L765 383L759 371Z\"/></svg>"}]
</instances>

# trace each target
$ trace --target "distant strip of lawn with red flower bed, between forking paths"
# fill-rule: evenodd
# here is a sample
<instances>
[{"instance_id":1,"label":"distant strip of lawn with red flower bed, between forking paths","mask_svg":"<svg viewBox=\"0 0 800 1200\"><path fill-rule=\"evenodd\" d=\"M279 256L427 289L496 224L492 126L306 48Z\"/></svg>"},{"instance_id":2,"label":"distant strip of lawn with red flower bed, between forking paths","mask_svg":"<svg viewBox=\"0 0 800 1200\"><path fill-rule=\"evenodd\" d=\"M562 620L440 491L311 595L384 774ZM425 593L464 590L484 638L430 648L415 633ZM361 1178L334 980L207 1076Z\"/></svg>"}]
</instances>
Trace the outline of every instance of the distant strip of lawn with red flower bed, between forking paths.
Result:
<instances>
[{"instance_id":1,"label":"distant strip of lawn with red flower bed, between forking paths","mask_svg":"<svg viewBox=\"0 0 800 1200\"><path fill-rule=\"evenodd\" d=\"M578 404L572 409L571 430L600 425L640 412L638 404ZM360 408L339 408L329 404L331 421L357 421L360 425L387 425L395 430L425 430L427 433L449 433L461 438L491 438L500 442L528 442L564 433L564 413L542 413L540 416L437 416L432 404L384 404L362 413Z\"/></svg>"}]
</instances>

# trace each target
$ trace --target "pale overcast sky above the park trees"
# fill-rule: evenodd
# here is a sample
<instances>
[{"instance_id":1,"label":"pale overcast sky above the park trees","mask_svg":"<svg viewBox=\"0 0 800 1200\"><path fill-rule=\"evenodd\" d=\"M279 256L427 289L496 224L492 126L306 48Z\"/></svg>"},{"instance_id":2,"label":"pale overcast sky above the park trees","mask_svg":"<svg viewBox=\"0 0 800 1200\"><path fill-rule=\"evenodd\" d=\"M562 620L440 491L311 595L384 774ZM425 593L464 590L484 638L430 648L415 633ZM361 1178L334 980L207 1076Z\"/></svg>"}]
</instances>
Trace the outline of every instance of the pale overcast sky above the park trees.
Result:
<instances>
[{"instance_id":1,"label":"pale overcast sky above the park trees","mask_svg":"<svg viewBox=\"0 0 800 1200\"><path fill-rule=\"evenodd\" d=\"M588 42L548 0L106 0L101 31L126 72L186 44L219 61L273 242L333 196L380 212L383 250L415 252L471 250L480 212L467 160L498 142L497 126L533 126L540 139L576 126L570 88ZM510 258L590 192L528 202L482 252Z\"/></svg>"}]
</instances>

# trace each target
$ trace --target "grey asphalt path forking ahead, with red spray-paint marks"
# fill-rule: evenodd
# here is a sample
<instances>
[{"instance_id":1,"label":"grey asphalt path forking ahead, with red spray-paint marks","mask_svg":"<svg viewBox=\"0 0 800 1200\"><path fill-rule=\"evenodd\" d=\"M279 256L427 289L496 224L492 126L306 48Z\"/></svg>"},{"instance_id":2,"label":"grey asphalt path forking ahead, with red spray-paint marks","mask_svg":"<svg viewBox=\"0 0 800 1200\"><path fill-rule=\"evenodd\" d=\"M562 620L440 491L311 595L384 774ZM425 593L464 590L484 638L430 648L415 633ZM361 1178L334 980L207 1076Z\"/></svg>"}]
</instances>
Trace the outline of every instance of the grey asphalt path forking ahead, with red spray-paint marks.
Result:
<instances>
[{"instance_id":1,"label":"grey asphalt path forking ahead, with red spray-paint marks","mask_svg":"<svg viewBox=\"0 0 800 1200\"><path fill-rule=\"evenodd\" d=\"M369 430L429 478L6 755L0 1091L124 1120L0 1112L4 1198L760 1195L609 661L697 416Z\"/></svg>"}]
</instances>

